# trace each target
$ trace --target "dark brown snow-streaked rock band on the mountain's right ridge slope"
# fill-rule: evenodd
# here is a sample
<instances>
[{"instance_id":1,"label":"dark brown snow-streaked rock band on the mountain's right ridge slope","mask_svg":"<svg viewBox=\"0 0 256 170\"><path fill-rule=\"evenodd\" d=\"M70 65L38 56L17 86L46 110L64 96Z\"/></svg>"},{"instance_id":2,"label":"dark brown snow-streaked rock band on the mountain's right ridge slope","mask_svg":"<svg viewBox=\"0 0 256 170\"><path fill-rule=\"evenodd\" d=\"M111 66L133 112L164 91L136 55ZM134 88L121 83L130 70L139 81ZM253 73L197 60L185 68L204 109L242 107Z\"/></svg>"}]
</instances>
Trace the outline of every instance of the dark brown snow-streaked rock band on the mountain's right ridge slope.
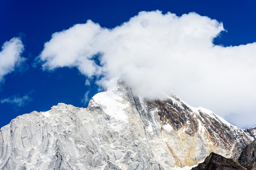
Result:
<instances>
[{"instance_id":1,"label":"dark brown snow-streaked rock band on the mountain's right ridge slope","mask_svg":"<svg viewBox=\"0 0 256 170\"><path fill-rule=\"evenodd\" d=\"M169 124L177 132L177 136L184 136L183 139L187 140L186 134L192 138L200 135L204 140L213 144L213 146L209 146L212 149L207 149L207 155L216 152L228 158L237 159L245 146L256 136L256 129L242 130L230 126L211 111L205 112L206 110L203 108L191 110L188 104L182 102L175 95L165 101L144 100L144 102L149 110L158 110L161 126ZM204 129L199 129L199 124ZM182 135L181 131L184 132ZM191 143L193 144L193 142ZM217 148L221 148L225 152Z\"/></svg>"}]
</instances>

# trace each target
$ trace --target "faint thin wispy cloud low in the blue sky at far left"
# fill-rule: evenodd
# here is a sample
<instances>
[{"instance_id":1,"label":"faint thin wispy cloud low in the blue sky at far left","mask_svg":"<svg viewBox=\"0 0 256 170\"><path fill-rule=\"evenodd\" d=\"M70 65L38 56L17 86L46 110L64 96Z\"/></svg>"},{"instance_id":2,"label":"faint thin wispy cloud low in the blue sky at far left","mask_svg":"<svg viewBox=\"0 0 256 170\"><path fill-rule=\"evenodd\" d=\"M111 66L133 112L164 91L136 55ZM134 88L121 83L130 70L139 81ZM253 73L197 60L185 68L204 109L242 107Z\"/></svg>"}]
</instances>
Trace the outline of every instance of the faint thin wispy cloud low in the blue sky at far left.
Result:
<instances>
[{"instance_id":1,"label":"faint thin wispy cloud low in the blue sky at far left","mask_svg":"<svg viewBox=\"0 0 256 170\"><path fill-rule=\"evenodd\" d=\"M2 98L1 103L9 103L13 104L18 107L23 107L28 104L28 102L31 102L33 99L29 96L33 91L27 93L26 95L20 97L19 94L10 96L8 98Z\"/></svg>"}]
</instances>

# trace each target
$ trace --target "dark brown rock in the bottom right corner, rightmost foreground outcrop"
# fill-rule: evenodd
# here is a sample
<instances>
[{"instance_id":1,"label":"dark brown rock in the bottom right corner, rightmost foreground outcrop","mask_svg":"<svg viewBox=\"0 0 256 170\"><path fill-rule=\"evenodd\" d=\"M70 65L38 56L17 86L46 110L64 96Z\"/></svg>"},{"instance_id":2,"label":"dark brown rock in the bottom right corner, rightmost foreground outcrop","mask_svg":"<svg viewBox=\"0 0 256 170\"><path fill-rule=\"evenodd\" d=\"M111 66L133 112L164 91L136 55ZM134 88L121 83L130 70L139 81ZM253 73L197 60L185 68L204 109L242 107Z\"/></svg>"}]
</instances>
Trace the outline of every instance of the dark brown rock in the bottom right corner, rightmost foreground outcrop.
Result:
<instances>
[{"instance_id":1,"label":"dark brown rock in the bottom right corner, rightmost foreground outcrop","mask_svg":"<svg viewBox=\"0 0 256 170\"><path fill-rule=\"evenodd\" d=\"M245 147L238 161L247 170L256 170L256 140Z\"/></svg>"}]
</instances>

